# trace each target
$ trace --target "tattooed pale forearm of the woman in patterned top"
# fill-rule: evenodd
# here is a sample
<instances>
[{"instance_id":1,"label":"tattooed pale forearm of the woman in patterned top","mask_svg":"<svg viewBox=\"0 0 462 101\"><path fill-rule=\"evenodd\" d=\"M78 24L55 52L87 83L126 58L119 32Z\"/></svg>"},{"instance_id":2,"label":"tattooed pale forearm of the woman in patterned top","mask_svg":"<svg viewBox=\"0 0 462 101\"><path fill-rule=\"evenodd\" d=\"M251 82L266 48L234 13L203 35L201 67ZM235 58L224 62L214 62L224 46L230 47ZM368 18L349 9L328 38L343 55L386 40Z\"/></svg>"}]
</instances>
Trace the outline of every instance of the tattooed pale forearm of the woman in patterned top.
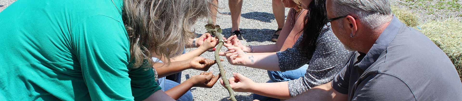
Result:
<instances>
[{"instance_id":1,"label":"tattooed pale forearm of the woman in patterned top","mask_svg":"<svg viewBox=\"0 0 462 101\"><path fill-rule=\"evenodd\" d=\"M247 53L243 66L269 71L280 71L276 53Z\"/></svg>"}]
</instances>

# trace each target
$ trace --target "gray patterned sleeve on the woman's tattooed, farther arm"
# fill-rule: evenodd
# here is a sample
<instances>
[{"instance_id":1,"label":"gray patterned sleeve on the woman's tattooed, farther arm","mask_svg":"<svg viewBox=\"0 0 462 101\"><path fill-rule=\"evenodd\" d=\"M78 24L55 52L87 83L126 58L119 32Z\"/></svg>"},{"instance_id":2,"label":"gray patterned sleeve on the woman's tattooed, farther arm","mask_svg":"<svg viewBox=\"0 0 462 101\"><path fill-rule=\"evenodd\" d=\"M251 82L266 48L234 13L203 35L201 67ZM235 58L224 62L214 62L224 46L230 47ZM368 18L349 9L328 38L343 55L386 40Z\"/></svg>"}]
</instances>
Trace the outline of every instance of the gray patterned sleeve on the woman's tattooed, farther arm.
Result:
<instances>
[{"instance_id":1,"label":"gray patterned sleeve on the woman's tattooed, farther arm","mask_svg":"<svg viewBox=\"0 0 462 101\"><path fill-rule=\"evenodd\" d=\"M307 55L308 50L299 47L302 36L298 37L297 42L295 42L292 48L287 48L284 51L276 53L279 59L280 71L296 70L310 61L310 59L307 58L309 57Z\"/></svg>"}]
</instances>

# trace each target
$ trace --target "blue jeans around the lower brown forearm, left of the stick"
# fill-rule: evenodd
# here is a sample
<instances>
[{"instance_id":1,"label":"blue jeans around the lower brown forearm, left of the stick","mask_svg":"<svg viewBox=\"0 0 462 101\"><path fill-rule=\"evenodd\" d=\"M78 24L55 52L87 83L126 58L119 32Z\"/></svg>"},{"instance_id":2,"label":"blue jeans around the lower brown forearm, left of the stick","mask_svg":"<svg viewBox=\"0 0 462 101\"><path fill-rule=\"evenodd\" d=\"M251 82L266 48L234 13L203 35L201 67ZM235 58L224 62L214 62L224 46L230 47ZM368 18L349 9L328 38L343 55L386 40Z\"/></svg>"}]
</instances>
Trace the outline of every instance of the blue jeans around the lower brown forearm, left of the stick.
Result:
<instances>
[{"instance_id":1,"label":"blue jeans around the lower brown forearm, left of the stick","mask_svg":"<svg viewBox=\"0 0 462 101\"><path fill-rule=\"evenodd\" d=\"M159 86L162 88L162 91L167 91L180 84L171 80L167 80L165 79L165 77L159 78L158 81ZM186 92L176 101L193 101L193 94L191 93L191 91L188 90L188 92Z\"/></svg>"}]
</instances>

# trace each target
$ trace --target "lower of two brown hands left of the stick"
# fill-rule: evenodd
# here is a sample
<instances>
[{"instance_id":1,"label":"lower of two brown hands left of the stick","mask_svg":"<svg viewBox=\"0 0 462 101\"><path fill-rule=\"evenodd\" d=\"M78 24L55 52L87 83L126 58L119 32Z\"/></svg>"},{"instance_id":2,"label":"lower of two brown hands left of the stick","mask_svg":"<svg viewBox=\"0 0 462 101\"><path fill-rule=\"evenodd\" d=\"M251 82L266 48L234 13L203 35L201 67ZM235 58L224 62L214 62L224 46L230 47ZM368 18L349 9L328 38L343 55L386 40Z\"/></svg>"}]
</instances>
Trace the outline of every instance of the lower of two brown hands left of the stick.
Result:
<instances>
[{"instance_id":1,"label":"lower of two brown hands left of the stick","mask_svg":"<svg viewBox=\"0 0 462 101\"><path fill-rule=\"evenodd\" d=\"M193 76L191 79L193 82L193 87L202 87L202 88L212 88L215 83L217 83L220 74L214 76L213 71L202 72L199 75ZM188 79L188 80L189 80Z\"/></svg>"}]
</instances>

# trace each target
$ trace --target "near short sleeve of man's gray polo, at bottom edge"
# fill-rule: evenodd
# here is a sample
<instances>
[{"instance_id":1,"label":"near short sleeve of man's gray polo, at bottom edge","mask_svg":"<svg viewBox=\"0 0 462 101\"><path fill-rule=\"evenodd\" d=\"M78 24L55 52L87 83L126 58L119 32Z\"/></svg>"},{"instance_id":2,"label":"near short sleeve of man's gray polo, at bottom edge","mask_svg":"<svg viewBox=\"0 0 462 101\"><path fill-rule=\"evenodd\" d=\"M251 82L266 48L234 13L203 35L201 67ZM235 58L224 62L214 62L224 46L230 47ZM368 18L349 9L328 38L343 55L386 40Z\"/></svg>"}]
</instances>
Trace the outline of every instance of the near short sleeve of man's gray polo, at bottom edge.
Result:
<instances>
[{"instance_id":1,"label":"near short sleeve of man's gray polo, at bottom edge","mask_svg":"<svg viewBox=\"0 0 462 101\"><path fill-rule=\"evenodd\" d=\"M406 83L390 74L378 73L358 84L351 101L417 101Z\"/></svg>"}]
</instances>

